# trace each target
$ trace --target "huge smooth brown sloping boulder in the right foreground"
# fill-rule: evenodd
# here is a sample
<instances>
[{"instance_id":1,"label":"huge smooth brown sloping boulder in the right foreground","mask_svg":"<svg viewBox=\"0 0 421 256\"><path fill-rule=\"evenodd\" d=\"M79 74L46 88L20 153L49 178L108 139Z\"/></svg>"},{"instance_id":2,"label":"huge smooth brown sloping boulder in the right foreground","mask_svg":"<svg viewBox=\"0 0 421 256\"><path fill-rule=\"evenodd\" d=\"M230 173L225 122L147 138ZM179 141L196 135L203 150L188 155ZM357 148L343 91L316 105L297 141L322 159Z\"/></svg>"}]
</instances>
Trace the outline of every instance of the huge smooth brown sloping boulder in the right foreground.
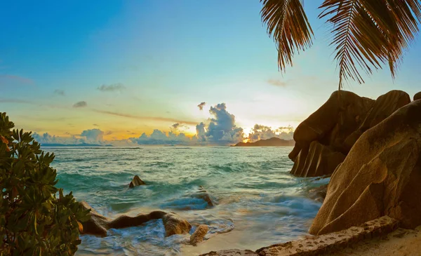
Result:
<instances>
[{"instance_id":1,"label":"huge smooth brown sloping boulder in the right foreground","mask_svg":"<svg viewBox=\"0 0 421 256\"><path fill-rule=\"evenodd\" d=\"M374 120L374 119L373 119ZM310 234L340 231L388 215L421 224L421 100L367 130L335 170Z\"/></svg>"}]
</instances>

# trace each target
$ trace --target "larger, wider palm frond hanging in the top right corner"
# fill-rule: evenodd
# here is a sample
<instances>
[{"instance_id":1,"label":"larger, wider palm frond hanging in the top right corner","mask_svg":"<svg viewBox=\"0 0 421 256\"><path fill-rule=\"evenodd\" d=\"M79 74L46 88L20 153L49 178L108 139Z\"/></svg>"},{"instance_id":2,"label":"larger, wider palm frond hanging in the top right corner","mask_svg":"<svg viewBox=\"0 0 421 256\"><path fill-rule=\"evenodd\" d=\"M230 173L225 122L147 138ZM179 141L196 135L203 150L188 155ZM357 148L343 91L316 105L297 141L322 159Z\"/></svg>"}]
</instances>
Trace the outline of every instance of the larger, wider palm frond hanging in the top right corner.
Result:
<instances>
[{"instance_id":1,"label":"larger, wider palm frond hanging in the top right corner","mask_svg":"<svg viewBox=\"0 0 421 256\"><path fill-rule=\"evenodd\" d=\"M394 77L421 21L420 0L325 0L320 8L332 25L339 89L348 79L363 83L360 70L371 74L385 63Z\"/></svg>"}]
</instances>

